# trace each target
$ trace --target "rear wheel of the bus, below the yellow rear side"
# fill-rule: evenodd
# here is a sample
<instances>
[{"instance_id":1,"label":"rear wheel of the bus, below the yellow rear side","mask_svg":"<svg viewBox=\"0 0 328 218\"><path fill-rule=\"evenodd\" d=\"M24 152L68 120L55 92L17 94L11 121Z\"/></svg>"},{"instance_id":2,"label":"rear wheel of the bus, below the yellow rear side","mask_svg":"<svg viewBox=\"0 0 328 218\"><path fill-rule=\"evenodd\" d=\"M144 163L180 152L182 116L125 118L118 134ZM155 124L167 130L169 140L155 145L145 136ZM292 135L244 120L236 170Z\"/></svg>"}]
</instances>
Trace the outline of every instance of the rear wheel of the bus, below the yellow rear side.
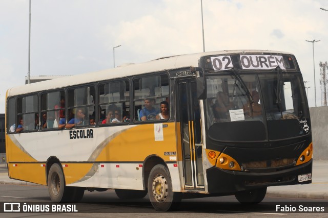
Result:
<instances>
[{"instance_id":1,"label":"rear wheel of the bus, below the yellow rear side","mask_svg":"<svg viewBox=\"0 0 328 218\"><path fill-rule=\"evenodd\" d=\"M68 202L74 192L73 187L65 185L64 173L58 163L51 165L48 173L48 191L53 202Z\"/></svg>"}]
</instances>

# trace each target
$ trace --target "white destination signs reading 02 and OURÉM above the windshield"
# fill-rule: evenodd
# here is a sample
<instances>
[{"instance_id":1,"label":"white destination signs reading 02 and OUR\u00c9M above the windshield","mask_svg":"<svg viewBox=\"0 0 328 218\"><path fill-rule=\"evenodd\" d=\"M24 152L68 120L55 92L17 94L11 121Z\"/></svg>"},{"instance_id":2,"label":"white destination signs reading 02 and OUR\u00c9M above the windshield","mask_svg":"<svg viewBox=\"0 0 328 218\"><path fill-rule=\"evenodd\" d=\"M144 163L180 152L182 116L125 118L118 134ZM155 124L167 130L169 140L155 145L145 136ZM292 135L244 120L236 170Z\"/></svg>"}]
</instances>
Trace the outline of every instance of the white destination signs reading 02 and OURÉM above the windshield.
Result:
<instances>
[{"instance_id":1,"label":"white destination signs reading 02 and OUR\u00c9M above the windshield","mask_svg":"<svg viewBox=\"0 0 328 218\"><path fill-rule=\"evenodd\" d=\"M280 55L240 55L242 69L274 69L279 66L286 69L283 57ZM214 69L227 70L234 67L230 56L211 57Z\"/></svg>"}]
</instances>

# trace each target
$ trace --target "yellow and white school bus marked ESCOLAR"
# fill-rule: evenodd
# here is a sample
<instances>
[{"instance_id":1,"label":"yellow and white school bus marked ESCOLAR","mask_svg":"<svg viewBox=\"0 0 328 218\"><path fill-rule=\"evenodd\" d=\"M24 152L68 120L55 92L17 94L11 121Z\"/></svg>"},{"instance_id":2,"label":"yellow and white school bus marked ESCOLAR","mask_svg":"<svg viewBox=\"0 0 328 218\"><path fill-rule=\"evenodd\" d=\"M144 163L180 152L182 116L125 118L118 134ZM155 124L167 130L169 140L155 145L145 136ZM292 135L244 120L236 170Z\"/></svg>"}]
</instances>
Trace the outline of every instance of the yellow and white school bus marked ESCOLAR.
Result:
<instances>
[{"instance_id":1,"label":"yellow and white school bus marked ESCOLAR","mask_svg":"<svg viewBox=\"0 0 328 218\"><path fill-rule=\"evenodd\" d=\"M312 182L311 120L293 54L180 55L7 91L12 179L47 185L52 201L115 189L156 210L181 198Z\"/></svg>"}]
</instances>

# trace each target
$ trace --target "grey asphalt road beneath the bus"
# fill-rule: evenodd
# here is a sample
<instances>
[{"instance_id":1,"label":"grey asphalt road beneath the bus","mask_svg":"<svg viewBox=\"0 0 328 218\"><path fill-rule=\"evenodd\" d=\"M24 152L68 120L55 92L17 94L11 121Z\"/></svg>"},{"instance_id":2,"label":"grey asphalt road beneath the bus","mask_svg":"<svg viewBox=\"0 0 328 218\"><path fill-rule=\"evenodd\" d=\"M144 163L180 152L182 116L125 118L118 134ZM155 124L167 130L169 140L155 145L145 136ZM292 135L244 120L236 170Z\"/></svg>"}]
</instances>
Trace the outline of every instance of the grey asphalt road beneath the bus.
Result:
<instances>
[{"instance_id":1,"label":"grey asphalt road beneath the bus","mask_svg":"<svg viewBox=\"0 0 328 218\"><path fill-rule=\"evenodd\" d=\"M28 186L28 185L10 185L0 184L0 203L4 202L19 202L20 204L31 205L50 205L48 189L44 186ZM61 204L63 205L63 204ZM69 205L69 204L65 204ZM148 198L138 201L124 201L117 198L113 190L104 192L85 192L83 200L79 203L74 203L78 212L75 213L2 213L1 217L40 217L40 215L47 215L51 217L108 217L115 215L116 217L273 217L273 216L287 216L287 217L309 217L312 213L293 213L289 211L277 211L277 205L280 208L296 207L297 211L299 205L303 208L324 207L323 213L316 213L316 217L328 217L328 201L321 201L315 199L291 199L291 198L265 198L264 201L258 205L243 206L233 196L226 197L211 197L201 199L184 199L178 211L170 213L158 213L154 211ZM0 205L3 211L3 205ZM111 214L111 215L110 215Z\"/></svg>"}]
</instances>

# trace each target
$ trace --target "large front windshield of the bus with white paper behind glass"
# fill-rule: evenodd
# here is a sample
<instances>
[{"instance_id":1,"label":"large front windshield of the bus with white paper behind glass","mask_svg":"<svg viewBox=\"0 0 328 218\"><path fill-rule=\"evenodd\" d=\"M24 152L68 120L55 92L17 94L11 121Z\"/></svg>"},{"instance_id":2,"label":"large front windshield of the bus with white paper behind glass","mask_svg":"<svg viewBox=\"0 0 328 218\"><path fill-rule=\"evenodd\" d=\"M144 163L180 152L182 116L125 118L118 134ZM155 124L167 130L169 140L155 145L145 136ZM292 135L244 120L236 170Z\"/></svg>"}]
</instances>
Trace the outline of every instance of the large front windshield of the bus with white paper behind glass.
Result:
<instances>
[{"instance_id":1,"label":"large front windshield of the bus with white paper behind glass","mask_svg":"<svg viewBox=\"0 0 328 218\"><path fill-rule=\"evenodd\" d=\"M207 77L209 137L218 141L268 141L310 131L301 75L273 71Z\"/></svg>"}]
</instances>

